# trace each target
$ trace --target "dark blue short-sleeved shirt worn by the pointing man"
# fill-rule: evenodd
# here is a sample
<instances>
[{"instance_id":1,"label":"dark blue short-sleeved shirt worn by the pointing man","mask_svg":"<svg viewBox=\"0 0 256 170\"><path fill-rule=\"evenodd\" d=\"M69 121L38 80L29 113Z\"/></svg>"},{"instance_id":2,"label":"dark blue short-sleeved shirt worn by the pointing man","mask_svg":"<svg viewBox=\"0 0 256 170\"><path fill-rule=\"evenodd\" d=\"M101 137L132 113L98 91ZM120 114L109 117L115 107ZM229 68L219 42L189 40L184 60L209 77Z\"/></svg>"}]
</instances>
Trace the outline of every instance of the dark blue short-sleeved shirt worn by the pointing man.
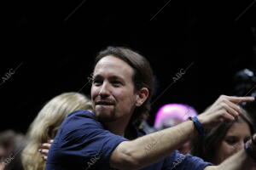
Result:
<instances>
[{"instance_id":1,"label":"dark blue short-sleeved shirt worn by the pointing man","mask_svg":"<svg viewBox=\"0 0 256 170\"><path fill-rule=\"evenodd\" d=\"M145 133L137 130L137 137ZM111 170L109 158L124 137L104 129L90 111L74 111L61 124L49 149L46 170ZM155 144L158 144L157 142ZM145 151L149 150L145 147ZM198 157L172 152L143 170L202 170L211 165Z\"/></svg>"}]
</instances>

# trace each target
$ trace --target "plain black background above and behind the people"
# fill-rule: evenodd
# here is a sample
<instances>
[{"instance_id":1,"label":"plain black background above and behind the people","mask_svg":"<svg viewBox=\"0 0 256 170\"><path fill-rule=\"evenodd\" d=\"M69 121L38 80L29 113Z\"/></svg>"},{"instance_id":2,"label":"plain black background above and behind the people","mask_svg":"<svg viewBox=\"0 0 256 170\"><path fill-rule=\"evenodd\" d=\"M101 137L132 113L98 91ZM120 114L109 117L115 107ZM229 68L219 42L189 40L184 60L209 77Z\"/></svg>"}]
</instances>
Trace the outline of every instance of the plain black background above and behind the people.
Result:
<instances>
[{"instance_id":1,"label":"plain black background above and behind the people","mask_svg":"<svg viewBox=\"0 0 256 170\"><path fill-rule=\"evenodd\" d=\"M0 130L25 133L47 100L79 91L88 82L96 53L108 45L133 48L150 61L158 82L154 99L160 96L150 124L166 103L185 103L203 111L220 94L231 94L236 71L256 65L255 4L243 14L251 3L69 0L3 4ZM173 83L177 72L189 65ZM15 74L3 81L11 69ZM90 85L81 92L90 94Z\"/></svg>"}]
</instances>

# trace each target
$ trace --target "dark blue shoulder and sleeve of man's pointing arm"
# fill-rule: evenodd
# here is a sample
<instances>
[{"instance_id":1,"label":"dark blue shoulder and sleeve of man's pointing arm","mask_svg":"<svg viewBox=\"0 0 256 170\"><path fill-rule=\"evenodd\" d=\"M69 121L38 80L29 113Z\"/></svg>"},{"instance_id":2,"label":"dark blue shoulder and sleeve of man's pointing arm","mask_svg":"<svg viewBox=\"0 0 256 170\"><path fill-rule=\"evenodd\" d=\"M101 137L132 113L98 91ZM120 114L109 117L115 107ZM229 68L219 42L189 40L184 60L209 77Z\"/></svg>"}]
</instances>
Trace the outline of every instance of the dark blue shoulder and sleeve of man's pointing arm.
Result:
<instances>
[{"instance_id":1,"label":"dark blue shoulder and sleeve of man's pointing arm","mask_svg":"<svg viewBox=\"0 0 256 170\"><path fill-rule=\"evenodd\" d=\"M109 166L112 151L128 139L103 129L102 124L91 114L89 111L80 111L79 114L68 117L61 125L54 147L50 148L55 153L52 161L68 161L85 167L94 164Z\"/></svg>"}]
</instances>

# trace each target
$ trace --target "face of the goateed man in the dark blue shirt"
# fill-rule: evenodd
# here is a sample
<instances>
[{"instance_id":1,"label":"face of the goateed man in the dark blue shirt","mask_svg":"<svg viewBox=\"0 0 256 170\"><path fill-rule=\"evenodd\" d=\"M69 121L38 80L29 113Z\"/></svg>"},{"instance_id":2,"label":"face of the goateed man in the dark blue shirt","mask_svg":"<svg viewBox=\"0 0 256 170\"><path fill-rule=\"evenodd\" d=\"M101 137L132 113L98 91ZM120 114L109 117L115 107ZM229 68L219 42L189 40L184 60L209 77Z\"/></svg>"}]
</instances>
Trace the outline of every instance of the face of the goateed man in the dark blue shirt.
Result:
<instances>
[{"instance_id":1,"label":"face of the goateed man in the dark blue shirt","mask_svg":"<svg viewBox=\"0 0 256 170\"><path fill-rule=\"evenodd\" d=\"M90 93L100 121L113 122L131 116L136 102L132 75L130 65L111 55L96 64Z\"/></svg>"}]
</instances>

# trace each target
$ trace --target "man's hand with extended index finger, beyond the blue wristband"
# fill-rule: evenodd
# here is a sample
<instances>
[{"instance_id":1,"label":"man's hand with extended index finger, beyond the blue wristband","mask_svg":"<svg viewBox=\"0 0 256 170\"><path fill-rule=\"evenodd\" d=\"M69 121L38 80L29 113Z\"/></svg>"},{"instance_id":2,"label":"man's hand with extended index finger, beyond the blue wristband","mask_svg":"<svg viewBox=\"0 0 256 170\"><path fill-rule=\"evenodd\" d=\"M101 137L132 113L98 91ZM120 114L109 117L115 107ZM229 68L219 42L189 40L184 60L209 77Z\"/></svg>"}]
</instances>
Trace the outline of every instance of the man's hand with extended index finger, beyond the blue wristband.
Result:
<instances>
[{"instance_id":1,"label":"man's hand with extended index finger, beyond the blue wristband","mask_svg":"<svg viewBox=\"0 0 256 170\"><path fill-rule=\"evenodd\" d=\"M242 114L241 102L252 102L253 97L234 97L221 95L198 119L204 127L210 128L222 122L233 122Z\"/></svg>"}]
</instances>

